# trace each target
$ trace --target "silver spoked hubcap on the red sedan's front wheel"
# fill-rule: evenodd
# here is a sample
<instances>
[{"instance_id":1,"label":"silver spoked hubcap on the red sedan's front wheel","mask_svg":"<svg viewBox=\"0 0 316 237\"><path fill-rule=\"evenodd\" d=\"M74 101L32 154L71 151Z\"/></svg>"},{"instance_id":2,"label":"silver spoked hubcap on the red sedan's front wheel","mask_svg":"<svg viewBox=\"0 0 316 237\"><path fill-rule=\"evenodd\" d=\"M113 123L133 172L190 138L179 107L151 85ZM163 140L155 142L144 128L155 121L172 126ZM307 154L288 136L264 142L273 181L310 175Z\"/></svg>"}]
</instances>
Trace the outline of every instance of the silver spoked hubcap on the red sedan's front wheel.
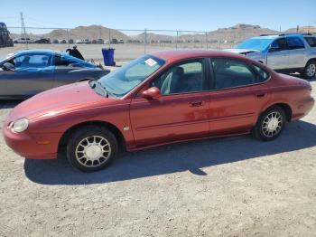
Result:
<instances>
[{"instance_id":1,"label":"silver spoked hubcap on the red sedan's front wheel","mask_svg":"<svg viewBox=\"0 0 316 237\"><path fill-rule=\"evenodd\" d=\"M101 166L110 155L111 147L105 137L86 137L76 147L76 158L80 165L86 167Z\"/></svg>"}]
</instances>

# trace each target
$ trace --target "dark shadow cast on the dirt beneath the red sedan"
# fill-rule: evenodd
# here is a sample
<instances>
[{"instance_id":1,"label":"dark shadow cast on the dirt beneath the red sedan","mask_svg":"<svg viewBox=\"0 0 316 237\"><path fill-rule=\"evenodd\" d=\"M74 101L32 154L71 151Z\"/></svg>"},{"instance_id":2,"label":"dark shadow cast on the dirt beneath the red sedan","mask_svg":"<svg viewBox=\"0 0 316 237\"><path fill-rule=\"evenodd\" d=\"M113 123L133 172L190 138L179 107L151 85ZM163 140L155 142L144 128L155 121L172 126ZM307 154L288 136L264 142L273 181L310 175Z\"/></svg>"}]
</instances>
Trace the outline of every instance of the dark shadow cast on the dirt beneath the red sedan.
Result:
<instances>
[{"instance_id":1,"label":"dark shadow cast on the dirt beneath the red sedan","mask_svg":"<svg viewBox=\"0 0 316 237\"><path fill-rule=\"evenodd\" d=\"M25 175L42 185L91 185L131 180L154 175L191 171L208 175L203 167L217 166L246 159L300 150L316 145L316 126L297 121L287 124L283 134L271 142L253 137L232 137L186 142L122 154L106 169L82 173L66 159L29 160L24 162Z\"/></svg>"}]
</instances>

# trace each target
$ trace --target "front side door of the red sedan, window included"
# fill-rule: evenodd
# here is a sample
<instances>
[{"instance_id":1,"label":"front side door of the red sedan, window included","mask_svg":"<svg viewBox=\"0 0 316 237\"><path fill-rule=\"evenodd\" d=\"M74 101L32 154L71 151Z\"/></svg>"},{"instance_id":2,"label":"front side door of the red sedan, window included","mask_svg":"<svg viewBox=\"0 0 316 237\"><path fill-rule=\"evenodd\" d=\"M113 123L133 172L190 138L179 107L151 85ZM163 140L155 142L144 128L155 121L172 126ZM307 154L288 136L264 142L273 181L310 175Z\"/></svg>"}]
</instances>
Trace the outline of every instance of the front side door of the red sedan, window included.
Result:
<instances>
[{"instance_id":1,"label":"front side door of the red sedan, window included","mask_svg":"<svg viewBox=\"0 0 316 237\"><path fill-rule=\"evenodd\" d=\"M161 96L132 100L130 117L136 146L207 136L209 91L204 59L172 65L151 81Z\"/></svg>"}]
</instances>

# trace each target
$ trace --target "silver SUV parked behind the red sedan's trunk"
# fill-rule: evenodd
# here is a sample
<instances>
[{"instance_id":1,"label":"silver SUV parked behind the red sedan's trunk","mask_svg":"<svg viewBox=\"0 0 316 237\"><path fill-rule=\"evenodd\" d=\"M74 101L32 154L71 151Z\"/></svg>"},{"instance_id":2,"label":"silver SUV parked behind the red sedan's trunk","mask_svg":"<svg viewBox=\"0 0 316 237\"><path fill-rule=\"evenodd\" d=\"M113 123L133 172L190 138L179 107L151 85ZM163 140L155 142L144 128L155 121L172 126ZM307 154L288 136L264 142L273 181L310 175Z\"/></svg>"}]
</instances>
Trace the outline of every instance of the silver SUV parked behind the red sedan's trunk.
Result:
<instances>
[{"instance_id":1,"label":"silver SUV parked behind the red sedan's trunk","mask_svg":"<svg viewBox=\"0 0 316 237\"><path fill-rule=\"evenodd\" d=\"M227 51L245 54L275 71L300 72L306 79L316 75L316 36L309 33L262 35Z\"/></svg>"}]
</instances>

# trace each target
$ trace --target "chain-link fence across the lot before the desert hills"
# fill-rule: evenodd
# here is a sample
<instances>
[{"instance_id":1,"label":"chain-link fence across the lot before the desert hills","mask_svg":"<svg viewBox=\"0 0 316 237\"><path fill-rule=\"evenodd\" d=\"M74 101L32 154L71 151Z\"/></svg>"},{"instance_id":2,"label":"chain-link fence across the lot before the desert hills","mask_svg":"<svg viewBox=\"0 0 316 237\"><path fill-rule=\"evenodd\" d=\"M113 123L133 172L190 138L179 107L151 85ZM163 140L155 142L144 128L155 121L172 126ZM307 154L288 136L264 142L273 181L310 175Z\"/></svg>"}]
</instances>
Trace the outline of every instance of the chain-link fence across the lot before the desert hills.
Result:
<instances>
[{"instance_id":1,"label":"chain-link fence across the lot before the desert hills","mask_svg":"<svg viewBox=\"0 0 316 237\"><path fill-rule=\"evenodd\" d=\"M102 62L102 48L115 49L116 62L133 60L144 53L177 49L226 49L246 38L279 33L254 30L220 29L215 32L182 30L108 29L101 25L69 28L7 27L14 47L0 49L0 55L24 49L66 51L74 45L88 60ZM25 30L25 31L24 31Z\"/></svg>"}]
</instances>

